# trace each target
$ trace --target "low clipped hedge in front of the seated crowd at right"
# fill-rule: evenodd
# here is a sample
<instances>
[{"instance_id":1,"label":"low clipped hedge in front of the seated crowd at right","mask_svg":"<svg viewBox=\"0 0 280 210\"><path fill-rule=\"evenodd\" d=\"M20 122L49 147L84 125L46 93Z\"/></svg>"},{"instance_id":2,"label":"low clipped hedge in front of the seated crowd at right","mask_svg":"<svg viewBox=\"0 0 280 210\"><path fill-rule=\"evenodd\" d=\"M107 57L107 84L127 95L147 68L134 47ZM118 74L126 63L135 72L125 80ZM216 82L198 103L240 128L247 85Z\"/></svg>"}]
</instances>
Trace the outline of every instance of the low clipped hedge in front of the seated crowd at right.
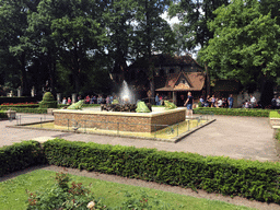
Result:
<instances>
[{"instance_id":1,"label":"low clipped hedge in front of the seated crowd at right","mask_svg":"<svg viewBox=\"0 0 280 210\"><path fill-rule=\"evenodd\" d=\"M250 117L269 117L269 109L253 109L253 108L194 108L194 114L214 114L214 115L231 115L231 116L250 116Z\"/></svg>"}]
</instances>

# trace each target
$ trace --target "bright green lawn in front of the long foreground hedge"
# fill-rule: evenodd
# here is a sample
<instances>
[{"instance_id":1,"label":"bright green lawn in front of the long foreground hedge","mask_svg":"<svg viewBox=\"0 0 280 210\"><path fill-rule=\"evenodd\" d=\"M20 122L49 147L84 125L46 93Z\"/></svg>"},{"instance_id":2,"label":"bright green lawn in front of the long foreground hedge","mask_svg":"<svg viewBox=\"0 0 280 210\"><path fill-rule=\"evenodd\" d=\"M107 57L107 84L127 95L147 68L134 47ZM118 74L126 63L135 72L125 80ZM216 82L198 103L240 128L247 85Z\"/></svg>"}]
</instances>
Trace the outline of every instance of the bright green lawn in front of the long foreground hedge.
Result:
<instances>
[{"instance_id":1,"label":"bright green lawn in front of the long foreground hedge","mask_svg":"<svg viewBox=\"0 0 280 210\"><path fill-rule=\"evenodd\" d=\"M27 174L20 175L13 179L0 183L0 209L1 210L22 210L26 209L28 191L44 191L55 183L56 172L37 170ZM234 206L222 201L209 200L203 198L194 198L173 192L165 192L156 189L136 187L124 184L110 183L84 176L70 175L71 182L83 183L83 186L91 189L95 198L102 198L102 202L107 207L114 208L120 206L127 200L127 192L135 194L137 197L144 190L149 195L149 200L161 200L168 203L167 209L184 210L245 210L247 207ZM70 182L70 183L71 183Z\"/></svg>"}]
</instances>

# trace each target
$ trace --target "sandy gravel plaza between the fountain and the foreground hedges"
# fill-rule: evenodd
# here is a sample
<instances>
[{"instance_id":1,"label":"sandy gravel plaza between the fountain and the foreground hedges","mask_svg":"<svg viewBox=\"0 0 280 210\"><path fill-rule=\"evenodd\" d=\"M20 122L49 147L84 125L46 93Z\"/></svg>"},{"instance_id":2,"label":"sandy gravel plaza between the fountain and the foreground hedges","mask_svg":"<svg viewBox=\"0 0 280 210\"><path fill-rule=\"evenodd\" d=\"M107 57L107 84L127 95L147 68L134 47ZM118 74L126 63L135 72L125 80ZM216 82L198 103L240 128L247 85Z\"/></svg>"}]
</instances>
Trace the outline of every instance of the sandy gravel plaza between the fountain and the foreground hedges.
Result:
<instances>
[{"instance_id":1,"label":"sandy gravel plaza between the fountain and the foreground hedges","mask_svg":"<svg viewBox=\"0 0 280 210\"><path fill-rule=\"evenodd\" d=\"M39 121L40 118L54 119L50 115L20 114L23 124ZM273 141L273 129L268 118L214 116L217 120L205 128L187 136L178 143L139 140L131 138L67 133L60 131L45 131L7 128L16 125L16 120L0 121L0 147L10 145L21 140L38 137L60 137L70 141L92 141L136 148L156 148L171 152L191 152L201 155L224 155L233 159L250 159L259 161L279 161Z\"/></svg>"}]
</instances>

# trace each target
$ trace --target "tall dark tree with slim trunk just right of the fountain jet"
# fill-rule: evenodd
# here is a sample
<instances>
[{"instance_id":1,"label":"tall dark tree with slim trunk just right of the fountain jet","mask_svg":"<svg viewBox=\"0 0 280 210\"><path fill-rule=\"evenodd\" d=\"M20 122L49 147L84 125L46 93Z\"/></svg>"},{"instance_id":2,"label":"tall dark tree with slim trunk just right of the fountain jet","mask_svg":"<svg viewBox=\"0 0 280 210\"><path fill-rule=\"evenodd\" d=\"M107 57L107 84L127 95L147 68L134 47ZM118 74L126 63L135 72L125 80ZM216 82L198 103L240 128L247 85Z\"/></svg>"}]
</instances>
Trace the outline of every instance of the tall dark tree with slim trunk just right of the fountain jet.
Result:
<instances>
[{"instance_id":1,"label":"tall dark tree with slim trunk just right of the fountain jet","mask_svg":"<svg viewBox=\"0 0 280 210\"><path fill-rule=\"evenodd\" d=\"M152 54L170 52L175 43L174 33L161 14L170 4L168 0L140 0L137 4L133 50L137 58L147 59L147 75L154 97L154 67Z\"/></svg>"}]
</instances>

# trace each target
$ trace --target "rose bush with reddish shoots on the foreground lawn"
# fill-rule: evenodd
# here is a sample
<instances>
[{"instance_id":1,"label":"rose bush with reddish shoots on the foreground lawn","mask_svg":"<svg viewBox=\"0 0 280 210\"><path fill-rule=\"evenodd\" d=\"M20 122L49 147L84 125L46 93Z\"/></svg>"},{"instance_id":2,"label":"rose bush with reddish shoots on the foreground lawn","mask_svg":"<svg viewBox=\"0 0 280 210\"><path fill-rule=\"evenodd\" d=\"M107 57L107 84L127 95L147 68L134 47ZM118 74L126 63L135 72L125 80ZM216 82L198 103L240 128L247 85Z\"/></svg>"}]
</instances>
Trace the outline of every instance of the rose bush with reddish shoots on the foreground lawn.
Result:
<instances>
[{"instance_id":1,"label":"rose bush with reddish shoots on the foreground lawn","mask_svg":"<svg viewBox=\"0 0 280 210\"><path fill-rule=\"evenodd\" d=\"M89 189L81 183L72 183L69 187L69 175L56 174L57 184L45 191L28 191L27 210L35 209L107 209L101 200L94 199ZM88 208L89 202L94 202L94 208Z\"/></svg>"}]
</instances>

